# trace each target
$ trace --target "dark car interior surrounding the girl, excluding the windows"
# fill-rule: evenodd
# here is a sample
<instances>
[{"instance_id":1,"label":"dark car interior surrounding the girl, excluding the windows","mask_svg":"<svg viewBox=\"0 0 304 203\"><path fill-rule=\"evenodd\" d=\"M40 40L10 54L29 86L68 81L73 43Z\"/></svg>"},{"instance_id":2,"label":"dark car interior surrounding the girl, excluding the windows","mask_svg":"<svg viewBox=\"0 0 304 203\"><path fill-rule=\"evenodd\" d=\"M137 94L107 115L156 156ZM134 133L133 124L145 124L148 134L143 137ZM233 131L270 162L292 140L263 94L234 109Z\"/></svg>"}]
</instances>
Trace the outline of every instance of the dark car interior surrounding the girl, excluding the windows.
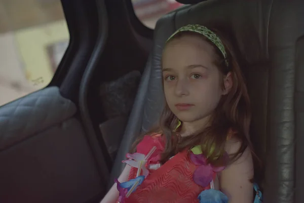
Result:
<instances>
[{"instance_id":1,"label":"dark car interior surrounding the girl, excluding the windows","mask_svg":"<svg viewBox=\"0 0 304 203\"><path fill-rule=\"evenodd\" d=\"M61 2L70 42L52 82L0 107L0 202L99 202L158 121L162 49L186 24L223 30L237 50L264 202L302 202L303 1L179 0L154 30L130 0Z\"/></svg>"}]
</instances>

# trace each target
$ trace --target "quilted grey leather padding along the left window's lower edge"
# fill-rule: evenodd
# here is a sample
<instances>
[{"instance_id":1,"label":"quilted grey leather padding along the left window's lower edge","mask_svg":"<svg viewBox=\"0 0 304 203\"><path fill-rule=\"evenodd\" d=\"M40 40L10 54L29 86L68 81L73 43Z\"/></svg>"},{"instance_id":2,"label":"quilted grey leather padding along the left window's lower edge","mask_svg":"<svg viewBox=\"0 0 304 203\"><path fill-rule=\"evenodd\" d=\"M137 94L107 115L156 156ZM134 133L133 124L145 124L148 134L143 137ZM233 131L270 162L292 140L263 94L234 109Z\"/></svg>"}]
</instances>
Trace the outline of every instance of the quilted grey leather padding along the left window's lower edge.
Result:
<instances>
[{"instance_id":1,"label":"quilted grey leather padding along the left window's lower edge","mask_svg":"<svg viewBox=\"0 0 304 203\"><path fill-rule=\"evenodd\" d=\"M70 118L76 110L72 101L60 95L58 87L45 88L1 107L0 151Z\"/></svg>"}]
</instances>

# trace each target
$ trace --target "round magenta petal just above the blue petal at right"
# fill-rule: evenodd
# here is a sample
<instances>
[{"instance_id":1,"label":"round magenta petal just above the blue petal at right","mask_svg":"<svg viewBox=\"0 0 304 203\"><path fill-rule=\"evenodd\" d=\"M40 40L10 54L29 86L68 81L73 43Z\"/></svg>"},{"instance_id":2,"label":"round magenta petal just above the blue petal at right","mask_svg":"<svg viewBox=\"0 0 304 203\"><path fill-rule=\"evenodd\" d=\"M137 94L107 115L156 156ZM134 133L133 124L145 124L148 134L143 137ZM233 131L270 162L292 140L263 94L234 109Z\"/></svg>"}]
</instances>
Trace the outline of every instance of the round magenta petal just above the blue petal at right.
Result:
<instances>
[{"instance_id":1,"label":"round magenta petal just above the blue petal at right","mask_svg":"<svg viewBox=\"0 0 304 203\"><path fill-rule=\"evenodd\" d=\"M207 187L212 181L213 170L210 165L200 165L193 173L193 180L196 184Z\"/></svg>"}]
</instances>

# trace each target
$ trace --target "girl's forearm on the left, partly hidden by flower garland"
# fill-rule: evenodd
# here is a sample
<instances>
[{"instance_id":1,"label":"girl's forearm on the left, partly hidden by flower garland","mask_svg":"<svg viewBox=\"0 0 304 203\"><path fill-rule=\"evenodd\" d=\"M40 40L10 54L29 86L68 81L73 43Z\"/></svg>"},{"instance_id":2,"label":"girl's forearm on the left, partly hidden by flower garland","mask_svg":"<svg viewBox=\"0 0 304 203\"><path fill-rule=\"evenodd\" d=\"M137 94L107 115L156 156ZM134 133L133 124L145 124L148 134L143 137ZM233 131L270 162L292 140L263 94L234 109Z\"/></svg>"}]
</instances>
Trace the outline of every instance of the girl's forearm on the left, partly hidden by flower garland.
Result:
<instances>
[{"instance_id":1,"label":"girl's forearm on the left, partly hidden by flower garland","mask_svg":"<svg viewBox=\"0 0 304 203\"><path fill-rule=\"evenodd\" d=\"M118 178L119 182L126 182L128 181L129 173L131 170L131 166L126 165L124 171ZM117 190L117 184L114 183L111 189L108 191L108 193L103 197L100 203L116 203L118 200L119 192Z\"/></svg>"}]
</instances>

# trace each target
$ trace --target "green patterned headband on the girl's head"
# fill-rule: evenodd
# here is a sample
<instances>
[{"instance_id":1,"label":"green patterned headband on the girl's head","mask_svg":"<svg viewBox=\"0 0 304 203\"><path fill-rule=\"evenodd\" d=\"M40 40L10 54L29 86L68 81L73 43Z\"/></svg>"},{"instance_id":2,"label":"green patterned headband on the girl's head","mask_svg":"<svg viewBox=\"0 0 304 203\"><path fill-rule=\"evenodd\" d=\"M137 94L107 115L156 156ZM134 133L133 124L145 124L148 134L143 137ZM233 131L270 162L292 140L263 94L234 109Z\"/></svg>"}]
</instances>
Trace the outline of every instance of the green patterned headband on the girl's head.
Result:
<instances>
[{"instance_id":1,"label":"green patterned headband on the girl's head","mask_svg":"<svg viewBox=\"0 0 304 203\"><path fill-rule=\"evenodd\" d=\"M217 46L217 48L220 50L220 52L223 54L224 59L225 59L225 64L228 67L229 63L227 60L227 53L225 51L225 47L223 45L223 43L221 42L221 40L219 39L219 37L217 37L217 35L211 31L210 29L208 29L207 27L203 26L203 25L186 25L183 26L181 28L179 28L178 30L176 30L173 35L171 35L169 37L169 39L166 41L166 43L172 39L177 33L182 32L182 31L192 31L192 32L196 32L199 33L203 36L205 36L208 40L210 40L213 44L215 44L215 46Z\"/></svg>"}]
</instances>

